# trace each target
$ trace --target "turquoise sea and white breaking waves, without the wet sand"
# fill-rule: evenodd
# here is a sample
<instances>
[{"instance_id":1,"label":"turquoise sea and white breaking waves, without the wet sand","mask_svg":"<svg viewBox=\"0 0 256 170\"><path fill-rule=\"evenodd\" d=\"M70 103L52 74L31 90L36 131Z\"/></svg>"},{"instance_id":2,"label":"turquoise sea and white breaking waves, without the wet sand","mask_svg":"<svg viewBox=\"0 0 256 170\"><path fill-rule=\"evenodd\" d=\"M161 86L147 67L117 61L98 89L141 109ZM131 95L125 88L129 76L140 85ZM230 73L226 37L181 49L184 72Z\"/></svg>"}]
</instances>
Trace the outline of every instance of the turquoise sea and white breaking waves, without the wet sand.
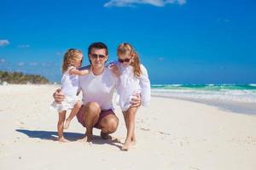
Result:
<instances>
[{"instance_id":1,"label":"turquoise sea and white breaking waves, without the wet sand","mask_svg":"<svg viewBox=\"0 0 256 170\"><path fill-rule=\"evenodd\" d=\"M256 84L158 84L152 94L188 99L218 99L256 103Z\"/></svg>"}]
</instances>

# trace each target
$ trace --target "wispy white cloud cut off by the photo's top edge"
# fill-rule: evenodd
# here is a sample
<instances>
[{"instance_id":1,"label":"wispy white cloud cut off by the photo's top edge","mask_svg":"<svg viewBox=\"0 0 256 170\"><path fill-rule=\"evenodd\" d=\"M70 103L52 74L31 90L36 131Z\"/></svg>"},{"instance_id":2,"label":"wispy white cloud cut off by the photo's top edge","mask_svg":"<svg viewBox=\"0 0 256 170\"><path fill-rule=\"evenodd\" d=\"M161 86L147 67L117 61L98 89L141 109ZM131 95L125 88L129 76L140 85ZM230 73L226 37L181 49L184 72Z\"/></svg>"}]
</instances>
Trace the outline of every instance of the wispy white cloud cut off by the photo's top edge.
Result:
<instances>
[{"instance_id":1,"label":"wispy white cloud cut off by the photo's top edge","mask_svg":"<svg viewBox=\"0 0 256 170\"><path fill-rule=\"evenodd\" d=\"M183 5L186 0L110 0L104 7L135 7L137 4L149 4L156 7L164 7L168 3Z\"/></svg>"}]
</instances>

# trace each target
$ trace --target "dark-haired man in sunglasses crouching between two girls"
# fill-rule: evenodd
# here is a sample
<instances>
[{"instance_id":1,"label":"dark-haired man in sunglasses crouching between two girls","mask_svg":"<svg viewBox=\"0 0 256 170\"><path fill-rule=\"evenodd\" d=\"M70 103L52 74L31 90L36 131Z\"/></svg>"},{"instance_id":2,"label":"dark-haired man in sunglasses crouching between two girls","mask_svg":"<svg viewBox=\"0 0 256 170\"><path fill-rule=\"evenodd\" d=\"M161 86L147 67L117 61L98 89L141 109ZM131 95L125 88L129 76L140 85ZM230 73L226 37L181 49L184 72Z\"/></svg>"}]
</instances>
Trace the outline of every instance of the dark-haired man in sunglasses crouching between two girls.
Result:
<instances>
[{"instance_id":1,"label":"dark-haired man in sunglasses crouching between two girls","mask_svg":"<svg viewBox=\"0 0 256 170\"><path fill-rule=\"evenodd\" d=\"M91 67L90 74L79 77L79 88L83 92L83 106L77 114L77 118L86 127L83 140L90 142L93 127L102 130L102 139L108 139L108 134L116 131L119 119L113 112L112 103L117 76L111 69L105 67L108 60L108 47L102 42L94 42L88 48L88 56ZM56 102L61 102L65 96L61 94L60 90L57 90L54 98ZM135 107L141 105L140 96L134 98L131 105Z\"/></svg>"}]
</instances>

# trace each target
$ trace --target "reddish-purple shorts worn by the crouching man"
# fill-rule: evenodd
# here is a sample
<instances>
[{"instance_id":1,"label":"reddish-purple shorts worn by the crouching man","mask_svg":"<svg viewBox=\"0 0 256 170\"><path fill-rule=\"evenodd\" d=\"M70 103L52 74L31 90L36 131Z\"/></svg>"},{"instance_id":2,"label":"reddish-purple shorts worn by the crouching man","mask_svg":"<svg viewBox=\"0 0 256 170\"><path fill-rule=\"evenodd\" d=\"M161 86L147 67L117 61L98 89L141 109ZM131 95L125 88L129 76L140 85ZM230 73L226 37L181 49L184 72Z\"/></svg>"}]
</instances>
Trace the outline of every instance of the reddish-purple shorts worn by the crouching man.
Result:
<instances>
[{"instance_id":1,"label":"reddish-purple shorts worn by the crouching man","mask_svg":"<svg viewBox=\"0 0 256 170\"><path fill-rule=\"evenodd\" d=\"M85 127L85 122L84 122L84 118L83 118L83 108L84 105L82 105L82 107L80 108L78 114L77 114L77 118L79 123L81 123L81 125L83 125L83 127ZM105 116L108 115L114 115L114 112L112 109L106 110L106 111L101 111L98 122L96 122L96 124L94 125L94 127L101 129L99 123L102 121L102 118L104 118Z\"/></svg>"}]
</instances>

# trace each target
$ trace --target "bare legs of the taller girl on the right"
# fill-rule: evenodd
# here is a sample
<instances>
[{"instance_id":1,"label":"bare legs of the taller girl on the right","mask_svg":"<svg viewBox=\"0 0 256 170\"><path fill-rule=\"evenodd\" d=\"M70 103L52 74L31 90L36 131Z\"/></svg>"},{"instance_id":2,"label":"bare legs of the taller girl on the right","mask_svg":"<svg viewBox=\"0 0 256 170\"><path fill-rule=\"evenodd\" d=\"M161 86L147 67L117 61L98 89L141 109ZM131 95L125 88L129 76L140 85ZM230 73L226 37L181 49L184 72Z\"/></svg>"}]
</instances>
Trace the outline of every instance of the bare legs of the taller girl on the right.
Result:
<instances>
[{"instance_id":1,"label":"bare legs of the taller girl on the right","mask_svg":"<svg viewBox=\"0 0 256 170\"><path fill-rule=\"evenodd\" d=\"M129 150L132 144L135 144L135 116L137 112L137 107L131 107L128 111L124 111L125 126L127 128L127 135L125 139L125 144L122 150Z\"/></svg>"}]
</instances>

